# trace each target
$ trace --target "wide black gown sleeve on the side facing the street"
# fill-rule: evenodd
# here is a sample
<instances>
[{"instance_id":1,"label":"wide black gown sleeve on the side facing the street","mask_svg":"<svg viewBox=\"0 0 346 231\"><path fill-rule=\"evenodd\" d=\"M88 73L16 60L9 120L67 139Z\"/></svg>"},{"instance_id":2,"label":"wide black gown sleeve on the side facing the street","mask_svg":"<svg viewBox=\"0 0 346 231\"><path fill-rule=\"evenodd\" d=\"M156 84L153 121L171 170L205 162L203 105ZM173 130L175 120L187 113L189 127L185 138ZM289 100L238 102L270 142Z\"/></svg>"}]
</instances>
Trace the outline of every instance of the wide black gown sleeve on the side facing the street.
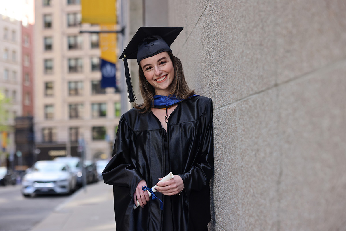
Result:
<instances>
[{"instance_id":1,"label":"wide black gown sleeve on the side facing the street","mask_svg":"<svg viewBox=\"0 0 346 231\"><path fill-rule=\"evenodd\" d=\"M135 158L130 150L131 129L124 115L121 116L115 139L112 159L102 172L103 181L114 186L129 187L133 195L143 176L135 169Z\"/></svg>"}]
</instances>

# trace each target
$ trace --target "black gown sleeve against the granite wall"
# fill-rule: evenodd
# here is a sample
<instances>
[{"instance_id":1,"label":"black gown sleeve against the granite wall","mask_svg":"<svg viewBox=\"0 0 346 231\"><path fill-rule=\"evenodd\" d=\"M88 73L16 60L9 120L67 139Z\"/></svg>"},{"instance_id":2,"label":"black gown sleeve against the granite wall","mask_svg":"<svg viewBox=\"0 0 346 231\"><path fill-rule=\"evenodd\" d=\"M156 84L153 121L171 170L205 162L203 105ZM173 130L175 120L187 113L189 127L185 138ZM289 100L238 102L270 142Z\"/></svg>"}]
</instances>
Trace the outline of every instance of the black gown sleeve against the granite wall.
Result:
<instances>
[{"instance_id":1,"label":"black gown sleeve against the granite wall","mask_svg":"<svg viewBox=\"0 0 346 231\"><path fill-rule=\"evenodd\" d=\"M204 113L201 115L200 145L197 150L195 164L188 172L179 175L184 183L186 196L191 190L200 191L209 186L209 181L214 170L214 146L213 146L213 116L212 100L210 99Z\"/></svg>"}]
</instances>

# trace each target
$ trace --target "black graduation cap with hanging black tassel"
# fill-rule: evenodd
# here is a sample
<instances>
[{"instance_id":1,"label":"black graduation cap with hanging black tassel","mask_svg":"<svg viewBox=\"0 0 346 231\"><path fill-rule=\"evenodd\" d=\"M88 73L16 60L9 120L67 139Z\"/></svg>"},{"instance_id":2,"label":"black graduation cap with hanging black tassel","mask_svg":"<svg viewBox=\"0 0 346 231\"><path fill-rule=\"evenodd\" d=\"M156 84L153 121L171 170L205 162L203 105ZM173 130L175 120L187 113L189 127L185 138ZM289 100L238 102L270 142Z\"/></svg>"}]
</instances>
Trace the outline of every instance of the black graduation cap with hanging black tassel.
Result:
<instances>
[{"instance_id":1,"label":"black graduation cap with hanging black tassel","mask_svg":"<svg viewBox=\"0 0 346 231\"><path fill-rule=\"evenodd\" d=\"M126 85L129 101L135 101L135 94L131 83L127 59L137 59L137 63L143 59L158 53L172 52L170 45L183 30L183 27L140 27L133 36L119 59L124 61Z\"/></svg>"}]
</instances>

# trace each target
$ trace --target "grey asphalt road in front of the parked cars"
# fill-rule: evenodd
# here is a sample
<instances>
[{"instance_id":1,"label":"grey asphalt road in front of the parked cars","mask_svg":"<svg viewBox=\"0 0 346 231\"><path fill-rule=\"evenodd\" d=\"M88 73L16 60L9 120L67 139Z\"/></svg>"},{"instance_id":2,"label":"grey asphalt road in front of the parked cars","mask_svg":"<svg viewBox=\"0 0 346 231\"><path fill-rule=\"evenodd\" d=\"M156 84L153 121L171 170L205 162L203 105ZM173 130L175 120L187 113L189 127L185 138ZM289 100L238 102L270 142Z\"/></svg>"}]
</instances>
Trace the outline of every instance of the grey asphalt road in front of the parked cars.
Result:
<instances>
[{"instance_id":1,"label":"grey asphalt road in front of the parked cars","mask_svg":"<svg viewBox=\"0 0 346 231\"><path fill-rule=\"evenodd\" d=\"M73 195L24 197L20 185L0 186L0 231L31 230Z\"/></svg>"}]
</instances>

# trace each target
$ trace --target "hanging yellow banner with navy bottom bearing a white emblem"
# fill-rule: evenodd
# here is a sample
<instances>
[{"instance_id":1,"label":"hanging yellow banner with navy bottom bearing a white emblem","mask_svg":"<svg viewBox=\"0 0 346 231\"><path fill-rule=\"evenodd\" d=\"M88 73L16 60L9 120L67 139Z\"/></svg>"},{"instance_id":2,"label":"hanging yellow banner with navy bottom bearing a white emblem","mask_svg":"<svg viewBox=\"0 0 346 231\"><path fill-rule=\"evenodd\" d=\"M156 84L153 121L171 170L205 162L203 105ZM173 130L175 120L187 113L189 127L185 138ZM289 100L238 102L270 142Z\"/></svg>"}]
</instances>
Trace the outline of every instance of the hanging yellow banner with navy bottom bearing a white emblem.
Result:
<instances>
[{"instance_id":1,"label":"hanging yellow banner with navy bottom bearing a white emblem","mask_svg":"<svg viewBox=\"0 0 346 231\"><path fill-rule=\"evenodd\" d=\"M100 25L101 31L116 30L115 25ZM101 87L116 88L116 63L117 59L117 34L116 33L100 33L100 50L101 50Z\"/></svg>"}]
</instances>

